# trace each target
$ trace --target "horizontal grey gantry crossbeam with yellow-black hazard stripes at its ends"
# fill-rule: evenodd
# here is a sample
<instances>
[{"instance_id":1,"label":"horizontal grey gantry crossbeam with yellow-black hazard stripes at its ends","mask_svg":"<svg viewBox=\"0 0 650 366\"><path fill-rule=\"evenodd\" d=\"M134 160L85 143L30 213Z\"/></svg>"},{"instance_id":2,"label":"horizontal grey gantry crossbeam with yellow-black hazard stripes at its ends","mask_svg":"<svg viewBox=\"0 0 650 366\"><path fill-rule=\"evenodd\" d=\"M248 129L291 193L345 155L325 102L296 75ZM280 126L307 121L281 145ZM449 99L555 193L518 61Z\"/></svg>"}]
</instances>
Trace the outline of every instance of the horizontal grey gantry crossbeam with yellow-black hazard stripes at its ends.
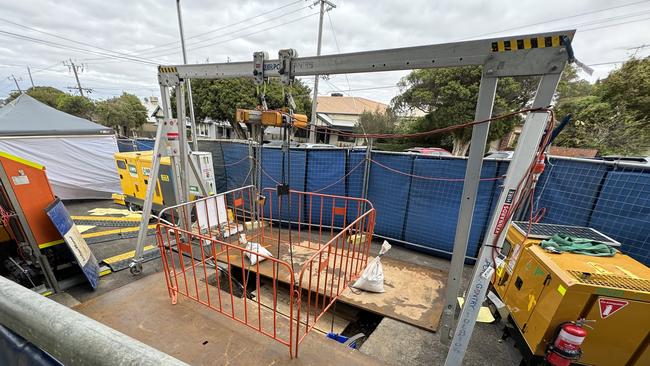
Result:
<instances>
[{"instance_id":1,"label":"horizontal grey gantry crossbeam with yellow-black hazard stripes at its ends","mask_svg":"<svg viewBox=\"0 0 650 366\"><path fill-rule=\"evenodd\" d=\"M573 39L575 30L490 38L438 45L344 53L292 60L293 76L484 66L489 76L558 74L567 60L562 37ZM265 77L280 76L280 61L264 61ZM253 62L170 65L159 68L159 81L176 79L253 77Z\"/></svg>"}]
</instances>

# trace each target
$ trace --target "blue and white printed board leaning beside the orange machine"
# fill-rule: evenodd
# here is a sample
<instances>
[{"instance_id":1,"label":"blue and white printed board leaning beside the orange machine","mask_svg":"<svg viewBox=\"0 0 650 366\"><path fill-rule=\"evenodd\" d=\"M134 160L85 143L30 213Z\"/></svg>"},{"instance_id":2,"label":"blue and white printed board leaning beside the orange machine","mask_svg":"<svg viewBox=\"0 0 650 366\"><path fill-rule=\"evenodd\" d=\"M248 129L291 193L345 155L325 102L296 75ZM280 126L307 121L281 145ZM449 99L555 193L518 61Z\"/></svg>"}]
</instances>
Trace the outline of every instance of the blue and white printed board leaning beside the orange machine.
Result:
<instances>
[{"instance_id":1,"label":"blue and white printed board leaning beside the orange machine","mask_svg":"<svg viewBox=\"0 0 650 366\"><path fill-rule=\"evenodd\" d=\"M97 259L90 251L86 240L81 236L72 218L70 218L70 214L63 205L63 202L57 198L45 208L45 212L61 236L63 236L63 240L72 251L72 254L74 254L79 267L81 267L81 271L88 279L88 282L90 282L90 286L96 289L99 284L99 265L97 264Z\"/></svg>"}]
</instances>

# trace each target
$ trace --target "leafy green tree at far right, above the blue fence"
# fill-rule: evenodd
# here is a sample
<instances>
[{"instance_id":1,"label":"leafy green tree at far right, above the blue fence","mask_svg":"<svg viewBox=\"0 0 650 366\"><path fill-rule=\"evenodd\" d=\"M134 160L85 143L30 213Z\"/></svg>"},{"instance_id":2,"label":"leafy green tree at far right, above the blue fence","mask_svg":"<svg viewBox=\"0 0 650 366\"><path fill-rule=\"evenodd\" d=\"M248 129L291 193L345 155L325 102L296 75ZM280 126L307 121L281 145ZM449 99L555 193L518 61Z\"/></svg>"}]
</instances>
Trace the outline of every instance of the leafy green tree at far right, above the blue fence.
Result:
<instances>
[{"instance_id":1,"label":"leafy green tree at far right, above the blue fence","mask_svg":"<svg viewBox=\"0 0 650 366\"><path fill-rule=\"evenodd\" d=\"M573 116L555 140L565 147L598 149L601 155L645 154L650 147L650 59L631 59L595 85L565 70L556 103L561 118Z\"/></svg>"}]
</instances>

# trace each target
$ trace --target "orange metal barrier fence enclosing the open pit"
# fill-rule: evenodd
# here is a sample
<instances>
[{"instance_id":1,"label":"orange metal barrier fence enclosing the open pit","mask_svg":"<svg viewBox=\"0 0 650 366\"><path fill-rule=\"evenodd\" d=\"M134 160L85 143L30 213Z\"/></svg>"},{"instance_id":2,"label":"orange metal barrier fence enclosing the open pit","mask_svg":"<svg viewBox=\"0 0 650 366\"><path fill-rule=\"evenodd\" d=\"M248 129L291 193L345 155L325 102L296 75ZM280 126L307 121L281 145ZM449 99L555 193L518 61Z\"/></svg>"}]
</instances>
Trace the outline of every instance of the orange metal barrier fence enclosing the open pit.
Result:
<instances>
[{"instance_id":1,"label":"orange metal barrier fence enclosing the open pit","mask_svg":"<svg viewBox=\"0 0 650 366\"><path fill-rule=\"evenodd\" d=\"M172 303L194 300L289 348L368 263L367 200L247 186L168 207L157 225ZM245 234L245 240L240 237Z\"/></svg>"}]
</instances>

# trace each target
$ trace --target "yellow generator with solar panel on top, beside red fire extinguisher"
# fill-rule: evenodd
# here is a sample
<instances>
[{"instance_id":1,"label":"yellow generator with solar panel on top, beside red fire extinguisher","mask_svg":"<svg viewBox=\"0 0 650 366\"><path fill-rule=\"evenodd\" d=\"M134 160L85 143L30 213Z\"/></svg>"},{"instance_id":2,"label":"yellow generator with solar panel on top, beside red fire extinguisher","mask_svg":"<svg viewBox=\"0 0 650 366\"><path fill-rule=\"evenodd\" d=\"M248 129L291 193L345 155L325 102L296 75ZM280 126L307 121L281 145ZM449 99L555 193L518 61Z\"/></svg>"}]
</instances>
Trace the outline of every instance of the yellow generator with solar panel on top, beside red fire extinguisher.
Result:
<instances>
[{"instance_id":1,"label":"yellow generator with solar panel on top, beside red fire extinguisher","mask_svg":"<svg viewBox=\"0 0 650 366\"><path fill-rule=\"evenodd\" d=\"M650 365L650 269L621 253L556 254L538 245L554 234L620 245L590 228L510 226L503 249L507 258L493 285L516 327L515 338L526 345L524 356L543 358L561 326L586 319L582 355L574 363Z\"/></svg>"}]
</instances>

